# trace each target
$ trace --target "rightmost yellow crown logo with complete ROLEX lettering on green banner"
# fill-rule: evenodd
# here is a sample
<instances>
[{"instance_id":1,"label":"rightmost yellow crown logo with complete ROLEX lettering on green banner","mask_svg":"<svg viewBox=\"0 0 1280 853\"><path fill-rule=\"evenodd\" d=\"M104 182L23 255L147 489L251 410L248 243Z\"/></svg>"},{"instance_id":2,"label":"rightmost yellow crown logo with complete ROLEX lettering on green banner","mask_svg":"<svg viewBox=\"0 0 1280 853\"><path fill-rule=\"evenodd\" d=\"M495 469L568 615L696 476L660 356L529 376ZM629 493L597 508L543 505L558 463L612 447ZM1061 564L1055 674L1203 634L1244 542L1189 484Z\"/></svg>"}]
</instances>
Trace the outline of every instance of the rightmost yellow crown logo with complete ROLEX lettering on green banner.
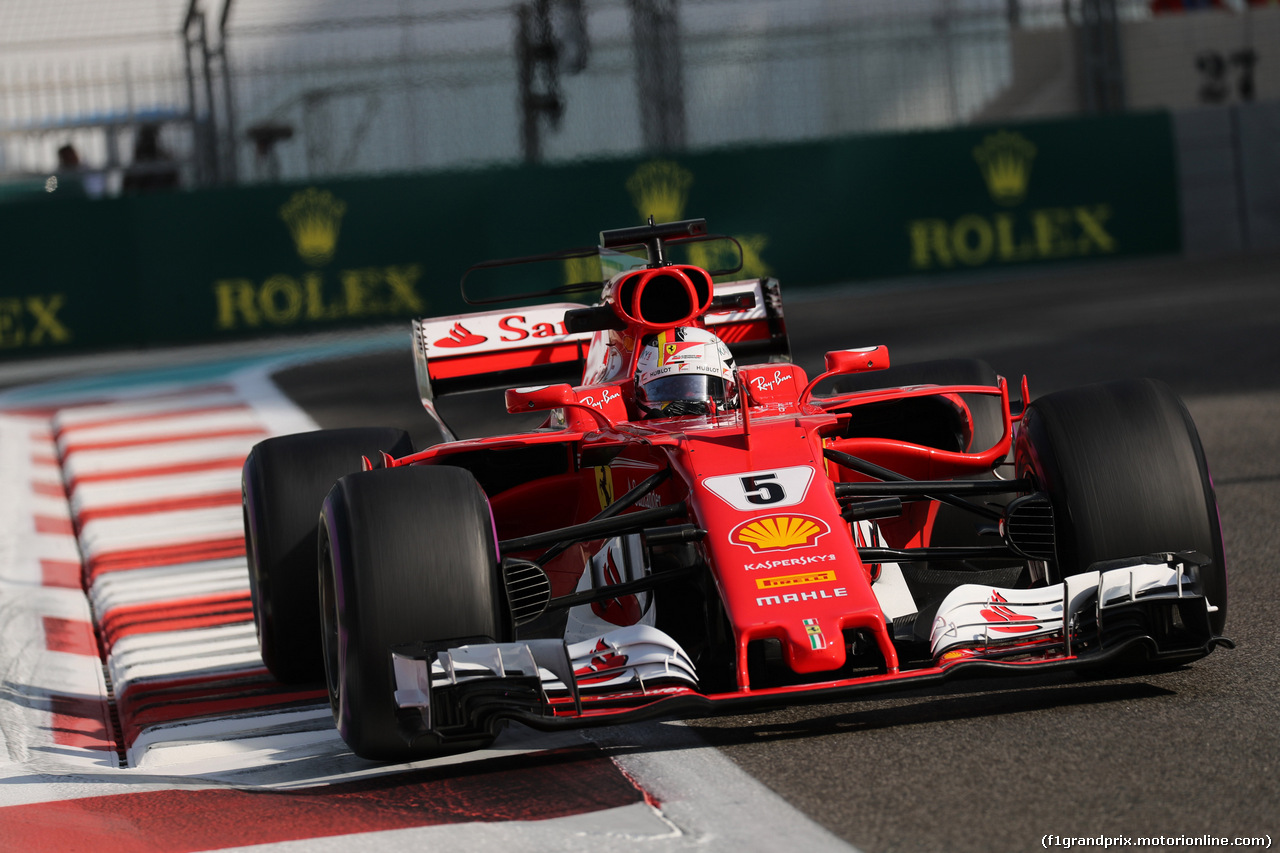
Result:
<instances>
[{"instance_id":1,"label":"rightmost yellow crown logo with complete ROLEX lettering on green banner","mask_svg":"<svg viewBox=\"0 0 1280 853\"><path fill-rule=\"evenodd\" d=\"M1110 232L1110 204L1020 209L1037 156L1036 145L1023 134L997 131L970 154L991 201L1006 210L977 210L983 204L973 200L975 210L954 220L913 219L906 224L913 269L1084 257L1119 250Z\"/></svg>"}]
</instances>

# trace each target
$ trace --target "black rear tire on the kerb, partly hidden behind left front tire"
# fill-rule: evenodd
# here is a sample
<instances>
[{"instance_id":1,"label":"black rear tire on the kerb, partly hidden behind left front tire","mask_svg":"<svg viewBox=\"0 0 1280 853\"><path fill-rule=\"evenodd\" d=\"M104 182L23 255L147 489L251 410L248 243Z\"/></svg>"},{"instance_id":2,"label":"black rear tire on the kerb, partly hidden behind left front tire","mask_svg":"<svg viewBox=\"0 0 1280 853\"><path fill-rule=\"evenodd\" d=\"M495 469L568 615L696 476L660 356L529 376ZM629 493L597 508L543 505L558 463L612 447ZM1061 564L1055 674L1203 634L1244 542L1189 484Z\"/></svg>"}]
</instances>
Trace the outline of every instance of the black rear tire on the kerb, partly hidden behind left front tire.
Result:
<instances>
[{"instance_id":1,"label":"black rear tire on the kerb, partly hidden behind left front tire","mask_svg":"<svg viewBox=\"0 0 1280 853\"><path fill-rule=\"evenodd\" d=\"M324 678L316 523L329 488L361 456L413 452L402 429L325 429L260 442L244 460L244 551L262 662L279 681Z\"/></svg>"}]
</instances>

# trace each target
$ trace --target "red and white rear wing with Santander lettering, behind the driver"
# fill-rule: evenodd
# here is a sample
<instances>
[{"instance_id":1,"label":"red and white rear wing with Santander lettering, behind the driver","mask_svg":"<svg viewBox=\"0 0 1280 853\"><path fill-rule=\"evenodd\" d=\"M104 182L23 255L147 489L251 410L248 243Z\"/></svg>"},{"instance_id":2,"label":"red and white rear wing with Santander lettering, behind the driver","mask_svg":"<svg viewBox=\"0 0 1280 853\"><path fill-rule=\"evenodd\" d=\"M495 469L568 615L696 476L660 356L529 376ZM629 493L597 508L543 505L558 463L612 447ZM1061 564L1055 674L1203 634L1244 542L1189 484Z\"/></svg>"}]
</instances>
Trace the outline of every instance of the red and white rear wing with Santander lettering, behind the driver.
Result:
<instances>
[{"instance_id":1,"label":"red and white rear wing with Santander lettering, behind the driver","mask_svg":"<svg viewBox=\"0 0 1280 853\"><path fill-rule=\"evenodd\" d=\"M708 313L707 325L744 360L790 360L777 279L716 284L716 296L740 296L741 306ZM413 320L419 396L434 419L445 394L527 384L579 384L593 332L570 332L572 302Z\"/></svg>"}]
</instances>

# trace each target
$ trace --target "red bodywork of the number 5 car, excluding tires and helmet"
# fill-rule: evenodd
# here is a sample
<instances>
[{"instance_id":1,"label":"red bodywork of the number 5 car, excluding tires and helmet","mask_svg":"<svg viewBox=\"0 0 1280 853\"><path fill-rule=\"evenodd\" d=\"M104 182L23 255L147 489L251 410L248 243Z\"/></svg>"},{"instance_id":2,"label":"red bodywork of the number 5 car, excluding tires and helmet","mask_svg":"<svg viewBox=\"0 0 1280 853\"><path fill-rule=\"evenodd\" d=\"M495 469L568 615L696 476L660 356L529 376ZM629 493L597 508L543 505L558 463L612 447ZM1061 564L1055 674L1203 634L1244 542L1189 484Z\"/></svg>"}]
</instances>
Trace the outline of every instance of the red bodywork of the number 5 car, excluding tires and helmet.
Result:
<instances>
[{"instance_id":1,"label":"red bodywork of the number 5 car, excluding tires and helmet","mask_svg":"<svg viewBox=\"0 0 1280 853\"><path fill-rule=\"evenodd\" d=\"M1034 491L1025 480L996 475L1011 455L1021 412L1020 403L1010 403L1004 378L963 386L876 388L873 383L867 391L815 396L827 380L890 366L884 347L842 350L827 353L826 370L812 379L786 361L739 366L736 407L644 419L632 380L639 342L676 327L710 329L735 351L786 352L776 282L713 284L710 274L689 265L650 264L617 275L605 284L596 307L549 305L424 320L415 327L419 384L433 416L442 389L493 387L506 378L564 369L580 370L581 379L575 386L507 391L508 411L548 412L536 430L448 441L402 459L384 456L381 466L468 467L479 457L509 455L511 467L517 469L513 479L488 496L499 555L540 560L552 606L582 594L585 564L607 538L584 532L608 517L620 496L639 489L643 497L616 517L637 520L646 534L678 533L692 542L698 570L709 575L727 625L730 649L714 661L727 670L721 678L703 680L699 665L696 685L689 679L639 678L593 690L605 675L627 667L626 657L602 642L599 654L576 667L576 685L541 694L540 711L531 712L527 704L503 710L498 703L494 716L559 727L769 703L780 697L818 701L923 685L959 671L1012 672L1080 662L1073 629L1062 621L1074 624L1073 615L1060 612L1057 630L1047 630L1046 620L1029 615L1025 602L1006 599L991 587L980 611L982 642L904 660L902 638L895 635L892 615L886 615L879 594L883 565L943 553L934 542L934 524L945 498L952 496L941 493L972 487L972 494L1004 492L1009 500ZM1020 391L1027 401L1025 378ZM970 446L974 420L965 401L979 397L998 405L1001 435L989 447ZM918 398L948 409L960 424L960 450L850 433L856 412ZM558 459L556 470L521 478L518 467L526 457L520 455L531 448L541 448L545 456L540 459ZM663 471L669 471L666 479L655 479ZM890 485L896 491L881 489ZM876 501L877 494L899 497ZM850 502L856 497L872 500ZM1001 548L1005 557L1037 558L1012 542L1000 511L978 508L995 519L992 533L1004 544L960 547L954 549L956 558L989 558ZM543 553L556 540L547 532L557 530L572 544ZM618 585L617 596L608 596L611 584ZM1181 596L1180 574L1178 584ZM1068 611L1079 590L1062 587L1065 597L1056 593L1059 610ZM644 610L635 590L636 584L605 573L603 588L596 589L602 594L590 605L605 621L630 625ZM1034 635L1024 635L1033 625ZM753 684L758 667L751 653L762 640L776 644L788 676ZM1219 643L1226 640L1212 638L1175 649L1171 660L1203 656ZM1125 651L1124 646L1105 652L1093 648L1089 660Z\"/></svg>"}]
</instances>

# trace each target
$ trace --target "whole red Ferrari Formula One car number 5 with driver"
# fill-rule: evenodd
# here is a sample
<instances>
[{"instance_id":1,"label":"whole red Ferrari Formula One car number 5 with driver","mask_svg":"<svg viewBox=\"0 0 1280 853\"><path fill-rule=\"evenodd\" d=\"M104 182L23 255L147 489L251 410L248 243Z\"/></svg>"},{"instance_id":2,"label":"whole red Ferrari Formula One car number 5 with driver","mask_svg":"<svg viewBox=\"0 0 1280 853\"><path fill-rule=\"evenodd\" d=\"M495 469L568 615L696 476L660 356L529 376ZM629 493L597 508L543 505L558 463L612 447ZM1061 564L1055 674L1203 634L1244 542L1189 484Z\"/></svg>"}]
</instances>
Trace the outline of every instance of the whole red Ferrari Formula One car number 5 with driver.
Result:
<instances>
[{"instance_id":1,"label":"whole red Ferrari Formula One car number 5 with driver","mask_svg":"<svg viewBox=\"0 0 1280 853\"><path fill-rule=\"evenodd\" d=\"M415 323L449 441L321 430L250 455L262 657L326 680L357 754L1230 644L1213 485L1169 388L1025 405L982 361L878 346L810 378L777 282L671 261L722 256L707 240L701 220L603 232L595 306ZM563 375L506 392L547 412L531 432L457 441L436 414Z\"/></svg>"}]
</instances>

